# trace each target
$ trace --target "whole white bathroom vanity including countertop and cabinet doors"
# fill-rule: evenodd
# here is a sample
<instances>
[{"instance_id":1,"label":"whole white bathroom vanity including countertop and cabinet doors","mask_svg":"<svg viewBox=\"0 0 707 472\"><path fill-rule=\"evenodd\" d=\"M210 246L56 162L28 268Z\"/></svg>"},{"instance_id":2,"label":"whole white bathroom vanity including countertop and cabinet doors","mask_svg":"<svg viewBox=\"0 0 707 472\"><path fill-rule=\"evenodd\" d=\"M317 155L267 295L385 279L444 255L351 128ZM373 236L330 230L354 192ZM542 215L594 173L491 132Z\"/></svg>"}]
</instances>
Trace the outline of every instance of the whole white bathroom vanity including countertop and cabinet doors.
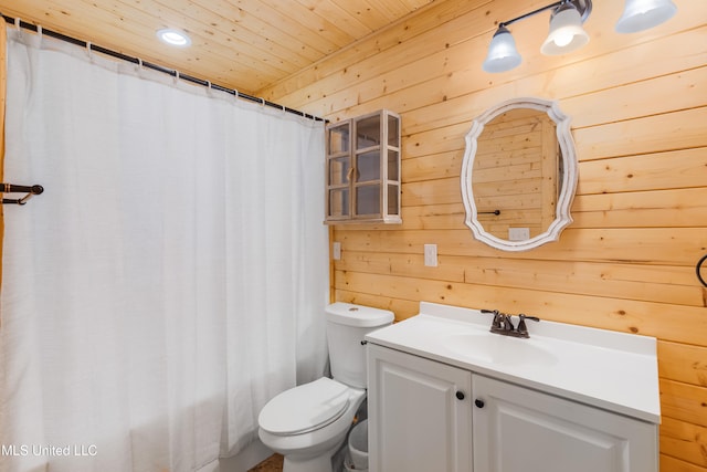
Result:
<instances>
[{"instance_id":1,"label":"whole white bathroom vanity including countertop and cabinet doors","mask_svg":"<svg viewBox=\"0 0 707 472\"><path fill-rule=\"evenodd\" d=\"M371 472L658 471L654 338L482 315L423 303L366 336Z\"/></svg>"}]
</instances>

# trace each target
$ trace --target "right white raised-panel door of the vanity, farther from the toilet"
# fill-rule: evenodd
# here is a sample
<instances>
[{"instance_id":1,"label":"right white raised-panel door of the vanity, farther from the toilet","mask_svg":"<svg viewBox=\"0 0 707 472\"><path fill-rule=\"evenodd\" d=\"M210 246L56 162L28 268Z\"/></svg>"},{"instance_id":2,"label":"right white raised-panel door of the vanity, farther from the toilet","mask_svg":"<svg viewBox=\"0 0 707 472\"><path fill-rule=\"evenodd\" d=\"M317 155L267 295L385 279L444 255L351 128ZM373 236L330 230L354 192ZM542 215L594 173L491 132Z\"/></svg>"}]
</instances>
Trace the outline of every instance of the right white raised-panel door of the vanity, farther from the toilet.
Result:
<instances>
[{"instance_id":1,"label":"right white raised-panel door of the vanity, farther from the toilet","mask_svg":"<svg viewBox=\"0 0 707 472\"><path fill-rule=\"evenodd\" d=\"M474 472L657 472L657 426L479 375Z\"/></svg>"}]
</instances>

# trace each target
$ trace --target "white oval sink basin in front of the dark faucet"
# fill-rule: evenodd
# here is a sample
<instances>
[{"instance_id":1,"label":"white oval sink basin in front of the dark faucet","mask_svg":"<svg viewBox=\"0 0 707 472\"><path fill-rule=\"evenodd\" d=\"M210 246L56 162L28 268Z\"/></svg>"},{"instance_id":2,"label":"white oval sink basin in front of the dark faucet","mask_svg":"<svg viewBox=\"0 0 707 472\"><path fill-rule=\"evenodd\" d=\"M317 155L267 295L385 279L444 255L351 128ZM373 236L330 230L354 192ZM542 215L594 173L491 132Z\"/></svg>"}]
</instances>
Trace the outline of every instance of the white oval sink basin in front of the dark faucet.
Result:
<instances>
[{"instance_id":1,"label":"white oval sink basin in front of the dark faucet","mask_svg":"<svg viewBox=\"0 0 707 472\"><path fill-rule=\"evenodd\" d=\"M490 332L451 335L442 345L458 356L488 364L549 367L558 360L555 354L541 346L541 342Z\"/></svg>"}]
</instances>

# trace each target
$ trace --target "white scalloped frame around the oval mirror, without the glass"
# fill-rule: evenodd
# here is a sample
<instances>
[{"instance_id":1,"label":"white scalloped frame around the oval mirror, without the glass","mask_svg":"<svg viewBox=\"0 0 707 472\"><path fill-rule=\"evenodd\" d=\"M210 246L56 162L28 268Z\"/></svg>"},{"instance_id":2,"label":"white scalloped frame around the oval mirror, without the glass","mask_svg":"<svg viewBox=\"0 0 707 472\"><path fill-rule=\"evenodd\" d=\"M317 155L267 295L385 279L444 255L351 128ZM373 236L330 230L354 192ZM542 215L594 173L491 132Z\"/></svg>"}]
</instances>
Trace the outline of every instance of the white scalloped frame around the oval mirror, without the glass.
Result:
<instances>
[{"instance_id":1,"label":"white scalloped frame around the oval mirror, without the glass","mask_svg":"<svg viewBox=\"0 0 707 472\"><path fill-rule=\"evenodd\" d=\"M478 146L478 137L484 126L496 116L515 108L532 108L546 112L556 124L557 140L560 146L563 162L562 187L556 207L556 218L547 231L525 241L508 241L488 233L477 218L476 203L474 201L474 188L472 172L474 158ZM503 251L527 251L548 242L559 240L560 233L572 222L570 206L574 198L578 180L577 151L570 130L570 118L564 115L556 101L537 97L518 97L503 102L478 116L472 123L472 128L465 136L466 149L462 162L462 198L466 209L465 223L472 229L474 238L486 244Z\"/></svg>"}]
</instances>

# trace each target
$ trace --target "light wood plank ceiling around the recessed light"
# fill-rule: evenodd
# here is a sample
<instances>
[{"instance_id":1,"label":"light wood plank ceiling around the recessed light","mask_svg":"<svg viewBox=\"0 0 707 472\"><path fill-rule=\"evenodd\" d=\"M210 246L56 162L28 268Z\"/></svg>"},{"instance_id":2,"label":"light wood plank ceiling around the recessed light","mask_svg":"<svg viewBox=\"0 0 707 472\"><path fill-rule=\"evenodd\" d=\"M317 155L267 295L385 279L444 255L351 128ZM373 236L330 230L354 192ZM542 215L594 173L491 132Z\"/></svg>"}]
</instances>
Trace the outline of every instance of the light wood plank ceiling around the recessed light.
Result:
<instances>
[{"instance_id":1,"label":"light wood plank ceiling around the recessed light","mask_svg":"<svg viewBox=\"0 0 707 472\"><path fill-rule=\"evenodd\" d=\"M0 13L257 95L433 1L0 0ZM192 45L161 43L163 28Z\"/></svg>"}]
</instances>

